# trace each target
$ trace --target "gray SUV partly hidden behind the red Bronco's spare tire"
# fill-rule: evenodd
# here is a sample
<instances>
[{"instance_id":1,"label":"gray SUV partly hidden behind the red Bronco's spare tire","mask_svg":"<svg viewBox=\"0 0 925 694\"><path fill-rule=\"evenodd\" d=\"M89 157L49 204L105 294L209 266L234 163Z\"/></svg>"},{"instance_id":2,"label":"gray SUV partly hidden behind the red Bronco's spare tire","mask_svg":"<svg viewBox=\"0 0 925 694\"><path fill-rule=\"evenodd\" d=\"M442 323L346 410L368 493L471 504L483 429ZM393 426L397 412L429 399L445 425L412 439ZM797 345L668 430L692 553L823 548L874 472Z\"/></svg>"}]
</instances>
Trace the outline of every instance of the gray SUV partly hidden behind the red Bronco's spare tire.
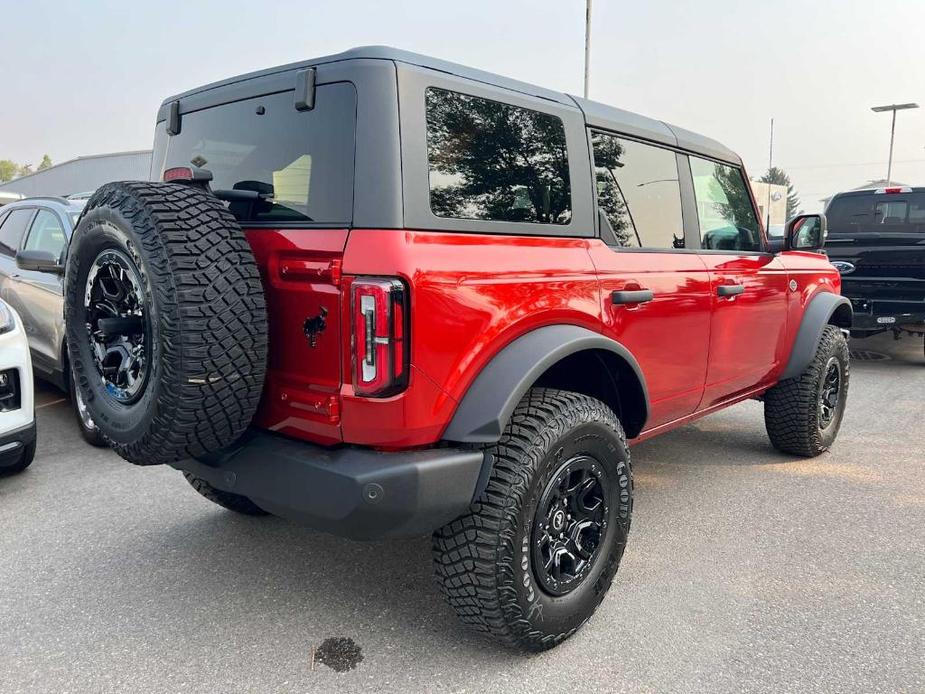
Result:
<instances>
[{"instance_id":1,"label":"gray SUV partly hidden behind the red Bronco's spare tire","mask_svg":"<svg viewBox=\"0 0 925 694\"><path fill-rule=\"evenodd\" d=\"M0 298L22 318L36 376L73 388L64 344L63 262L85 201L27 198L0 208ZM71 403L84 438L105 445L80 397Z\"/></svg>"}]
</instances>

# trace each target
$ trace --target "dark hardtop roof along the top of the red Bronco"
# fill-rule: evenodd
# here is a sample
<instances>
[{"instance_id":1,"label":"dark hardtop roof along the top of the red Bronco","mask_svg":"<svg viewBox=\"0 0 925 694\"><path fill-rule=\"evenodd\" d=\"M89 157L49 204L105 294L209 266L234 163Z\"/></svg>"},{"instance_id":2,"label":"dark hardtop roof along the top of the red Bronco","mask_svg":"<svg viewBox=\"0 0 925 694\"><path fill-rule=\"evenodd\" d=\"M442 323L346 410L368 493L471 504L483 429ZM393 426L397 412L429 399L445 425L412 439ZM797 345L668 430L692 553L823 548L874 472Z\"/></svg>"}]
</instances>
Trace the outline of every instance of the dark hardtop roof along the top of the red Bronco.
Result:
<instances>
[{"instance_id":1,"label":"dark hardtop roof along the top of the red Bronco","mask_svg":"<svg viewBox=\"0 0 925 694\"><path fill-rule=\"evenodd\" d=\"M389 46L361 46L358 48L351 48L350 50L344 51L343 53L335 53L333 55L327 55L321 58L313 58L310 60L299 61L297 63L289 63L288 65L280 65L278 67L258 70L256 72L238 75L237 77L231 77L229 79L220 80L218 82L212 82L211 84L206 84L165 99L161 105L161 112L163 113L165 111L166 105L172 101L193 95L203 94L209 90L220 89L222 87L227 87L238 82L243 82L245 80L258 79L260 77L276 75L281 72L301 70L308 67L323 65L325 63L336 63L346 60L360 59L390 60L399 66L401 66L401 64L406 64L426 68L429 70L436 70L438 72L454 75L463 79L482 82L484 84L490 84L502 89L509 89L521 94L527 94L529 96L534 96L540 99L546 99L548 101L553 101L565 106L577 106L582 110L582 112L584 112L585 119L591 127L614 130L642 139L661 142L672 147L679 147L693 153L704 154L714 159L728 161L737 165L741 164L742 162L742 160L737 154L735 154L735 152L717 142L716 140L712 140L708 137L704 137L703 135L698 135L697 133L693 133L689 130L685 130L684 128L670 125L660 120L647 118L646 116L641 116L629 111L607 106L606 104L591 101L590 99L582 99L580 97L571 96L565 92L557 92L551 89L546 89L545 87L529 84L527 82L521 82L519 80L511 79L508 77L502 77L501 75L496 75L491 72L485 72L484 70L477 70L475 68L459 65L457 63L440 60L439 58L431 58L429 56L412 53L410 51L403 51L401 49L391 48Z\"/></svg>"}]
</instances>

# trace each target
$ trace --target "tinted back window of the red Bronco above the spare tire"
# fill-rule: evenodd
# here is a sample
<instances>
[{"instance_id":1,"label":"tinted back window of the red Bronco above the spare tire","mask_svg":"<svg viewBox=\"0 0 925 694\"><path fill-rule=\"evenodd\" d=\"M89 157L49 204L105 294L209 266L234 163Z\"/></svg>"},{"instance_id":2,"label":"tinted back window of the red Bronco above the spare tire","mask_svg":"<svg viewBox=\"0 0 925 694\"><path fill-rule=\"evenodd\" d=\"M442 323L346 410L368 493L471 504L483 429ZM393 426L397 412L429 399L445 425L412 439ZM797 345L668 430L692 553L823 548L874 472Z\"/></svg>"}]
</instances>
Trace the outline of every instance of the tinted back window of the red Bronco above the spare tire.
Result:
<instances>
[{"instance_id":1,"label":"tinted back window of the red Bronco above the spare tire","mask_svg":"<svg viewBox=\"0 0 925 694\"><path fill-rule=\"evenodd\" d=\"M291 91L244 99L183 114L164 169L211 171L242 224L349 224L355 129L347 82L319 86L310 111L296 110Z\"/></svg>"}]
</instances>

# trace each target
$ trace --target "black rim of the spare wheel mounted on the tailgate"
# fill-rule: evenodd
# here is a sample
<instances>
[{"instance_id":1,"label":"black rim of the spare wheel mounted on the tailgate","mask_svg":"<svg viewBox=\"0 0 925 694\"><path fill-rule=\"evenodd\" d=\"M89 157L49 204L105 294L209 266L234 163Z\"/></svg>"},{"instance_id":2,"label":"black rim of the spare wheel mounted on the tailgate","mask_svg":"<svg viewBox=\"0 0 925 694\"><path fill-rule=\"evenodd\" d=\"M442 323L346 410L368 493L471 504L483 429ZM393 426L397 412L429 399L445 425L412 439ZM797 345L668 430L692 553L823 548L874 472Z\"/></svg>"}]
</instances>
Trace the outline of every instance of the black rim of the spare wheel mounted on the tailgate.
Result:
<instances>
[{"instance_id":1,"label":"black rim of the spare wheel mounted on the tailgate","mask_svg":"<svg viewBox=\"0 0 925 694\"><path fill-rule=\"evenodd\" d=\"M106 392L124 405L135 402L148 380L151 330L135 263L123 252L100 253L84 292L93 362Z\"/></svg>"}]
</instances>

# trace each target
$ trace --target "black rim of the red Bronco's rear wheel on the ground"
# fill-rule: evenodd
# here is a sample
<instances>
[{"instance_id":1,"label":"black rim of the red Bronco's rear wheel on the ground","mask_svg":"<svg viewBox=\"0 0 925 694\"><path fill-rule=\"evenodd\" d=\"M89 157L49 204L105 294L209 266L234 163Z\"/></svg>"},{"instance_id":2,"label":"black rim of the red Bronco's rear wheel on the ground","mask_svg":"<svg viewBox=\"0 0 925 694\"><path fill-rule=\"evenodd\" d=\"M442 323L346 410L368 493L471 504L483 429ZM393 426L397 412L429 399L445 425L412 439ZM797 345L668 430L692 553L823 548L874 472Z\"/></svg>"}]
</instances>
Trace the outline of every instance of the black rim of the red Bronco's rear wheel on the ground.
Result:
<instances>
[{"instance_id":1,"label":"black rim of the red Bronco's rear wheel on the ground","mask_svg":"<svg viewBox=\"0 0 925 694\"><path fill-rule=\"evenodd\" d=\"M588 455L563 463L546 485L533 522L533 572L543 590L565 595L587 577L607 531L607 478Z\"/></svg>"}]
</instances>

